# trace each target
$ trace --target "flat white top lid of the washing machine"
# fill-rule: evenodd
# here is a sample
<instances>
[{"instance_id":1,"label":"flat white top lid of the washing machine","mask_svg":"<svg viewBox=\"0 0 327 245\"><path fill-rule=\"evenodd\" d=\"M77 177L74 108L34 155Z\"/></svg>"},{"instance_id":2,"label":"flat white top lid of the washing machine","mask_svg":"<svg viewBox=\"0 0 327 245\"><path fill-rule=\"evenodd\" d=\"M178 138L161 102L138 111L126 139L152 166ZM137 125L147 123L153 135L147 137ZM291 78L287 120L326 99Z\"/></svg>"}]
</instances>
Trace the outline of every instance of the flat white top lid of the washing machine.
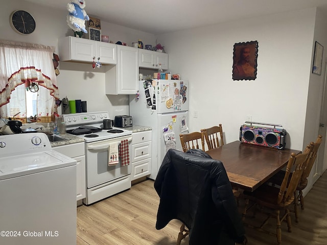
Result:
<instances>
[{"instance_id":1,"label":"flat white top lid of the washing machine","mask_svg":"<svg viewBox=\"0 0 327 245\"><path fill-rule=\"evenodd\" d=\"M76 165L76 160L56 151L0 158L0 180Z\"/></svg>"}]
</instances>

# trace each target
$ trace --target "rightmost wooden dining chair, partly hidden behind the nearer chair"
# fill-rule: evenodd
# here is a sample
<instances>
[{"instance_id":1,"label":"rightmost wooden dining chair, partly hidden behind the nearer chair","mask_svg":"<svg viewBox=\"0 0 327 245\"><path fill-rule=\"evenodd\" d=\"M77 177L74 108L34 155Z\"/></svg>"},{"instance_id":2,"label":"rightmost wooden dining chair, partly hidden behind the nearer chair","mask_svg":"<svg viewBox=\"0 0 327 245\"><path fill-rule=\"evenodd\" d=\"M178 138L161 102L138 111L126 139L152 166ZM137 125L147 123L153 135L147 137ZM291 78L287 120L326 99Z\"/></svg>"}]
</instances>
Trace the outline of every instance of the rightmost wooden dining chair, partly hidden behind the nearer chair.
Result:
<instances>
[{"instance_id":1,"label":"rightmost wooden dining chair, partly hidden behind the nearer chair","mask_svg":"<svg viewBox=\"0 0 327 245\"><path fill-rule=\"evenodd\" d=\"M299 215L298 215L298 207L299 204L301 205L301 209L305 209L305 201L303 198L303 193L302 190L305 189L308 185L308 177L310 175L311 169L313 164L315 163L315 160L317 158L317 154L318 154L318 150L319 150L319 146L321 144L321 139L322 136L318 135L316 142L310 142L310 144L312 145L312 151L309 154L309 157L305 163L305 169L303 170L303 174L301 176L301 179L299 181L299 184L296 187L295 190L295 201L294 201L294 212L295 212L295 221L296 223L298 223L299 221ZM285 175L285 171L281 170L279 171L275 176L273 176L271 179L269 179L267 182L268 183L272 183L274 185L281 185L283 182L283 177Z\"/></svg>"}]
</instances>

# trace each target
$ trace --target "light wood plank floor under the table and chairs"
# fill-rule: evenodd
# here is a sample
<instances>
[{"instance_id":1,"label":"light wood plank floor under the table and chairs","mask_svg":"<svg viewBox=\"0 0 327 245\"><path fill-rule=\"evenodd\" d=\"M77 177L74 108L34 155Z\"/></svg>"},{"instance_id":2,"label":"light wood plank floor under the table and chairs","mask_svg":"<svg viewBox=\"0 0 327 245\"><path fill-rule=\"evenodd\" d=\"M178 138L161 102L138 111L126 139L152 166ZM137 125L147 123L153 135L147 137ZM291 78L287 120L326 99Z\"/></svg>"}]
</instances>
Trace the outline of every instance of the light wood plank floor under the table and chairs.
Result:
<instances>
[{"instance_id":1,"label":"light wood plank floor under the table and chairs","mask_svg":"<svg viewBox=\"0 0 327 245\"><path fill-rule=\"evenodd\" d=\"M159 198L153 181L135 184L130 190L90 206L77 208L77 245L175 245L180 222L172 220L156 230ZM327 242L327 171L305 197L305 210L300 210L299 223L292 216L292 232L282 224L283 245L322 245ZM274 230L275 220L267 224ZM248 245L274 245L276 238L246 227ZM182 245L189 244L188 238ZM202 244L200 244L202 245ZM211 244L204 244L211 245Z\"/></svg>"}]
</instances>

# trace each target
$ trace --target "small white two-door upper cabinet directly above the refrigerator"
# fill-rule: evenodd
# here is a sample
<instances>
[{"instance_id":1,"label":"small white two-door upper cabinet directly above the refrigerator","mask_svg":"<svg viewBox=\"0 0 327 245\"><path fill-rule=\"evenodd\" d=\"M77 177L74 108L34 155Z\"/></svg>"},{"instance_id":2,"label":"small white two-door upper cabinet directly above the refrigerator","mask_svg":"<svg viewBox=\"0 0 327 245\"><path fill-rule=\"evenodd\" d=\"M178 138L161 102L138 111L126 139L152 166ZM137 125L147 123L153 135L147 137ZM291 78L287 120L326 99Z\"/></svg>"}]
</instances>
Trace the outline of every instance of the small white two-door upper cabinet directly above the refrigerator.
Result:
<instances>
[{"instance_id":1,"label":"small white two-door upper cabinet directly above the refrigerator","mask_svg":"<svg viewBox=\"0 0 327 245\"><path fill-rule=\"evenodd\" d=\"M159 69L168 69L168 54L139 48L139 67Z\"/></svg>"}]
</instances>

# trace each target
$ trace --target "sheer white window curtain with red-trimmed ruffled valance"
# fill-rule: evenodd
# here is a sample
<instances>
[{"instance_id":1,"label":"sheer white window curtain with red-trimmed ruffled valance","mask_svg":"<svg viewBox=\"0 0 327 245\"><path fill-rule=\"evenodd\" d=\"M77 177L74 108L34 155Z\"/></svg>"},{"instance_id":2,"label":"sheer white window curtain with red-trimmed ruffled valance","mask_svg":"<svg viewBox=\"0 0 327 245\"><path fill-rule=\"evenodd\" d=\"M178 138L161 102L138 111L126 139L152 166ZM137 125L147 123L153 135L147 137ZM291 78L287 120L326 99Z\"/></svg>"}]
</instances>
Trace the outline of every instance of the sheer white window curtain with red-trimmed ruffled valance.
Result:
<instances>
[{"instance_id":1,"label":"sheer white window curtain with red-trimmed ruffled valance","mask_svg":"<svg viewBox=\"0 0 327 245\"><path fill-rule=\"evenodd\" d=\"M55 48L39 44L0 40L0 117L27 122L27 88L35 83L39 90L38 121L51 121L59 99L53 66ZM18 114L17 114L18 113Z\"/></svg>"}]
</instances>

